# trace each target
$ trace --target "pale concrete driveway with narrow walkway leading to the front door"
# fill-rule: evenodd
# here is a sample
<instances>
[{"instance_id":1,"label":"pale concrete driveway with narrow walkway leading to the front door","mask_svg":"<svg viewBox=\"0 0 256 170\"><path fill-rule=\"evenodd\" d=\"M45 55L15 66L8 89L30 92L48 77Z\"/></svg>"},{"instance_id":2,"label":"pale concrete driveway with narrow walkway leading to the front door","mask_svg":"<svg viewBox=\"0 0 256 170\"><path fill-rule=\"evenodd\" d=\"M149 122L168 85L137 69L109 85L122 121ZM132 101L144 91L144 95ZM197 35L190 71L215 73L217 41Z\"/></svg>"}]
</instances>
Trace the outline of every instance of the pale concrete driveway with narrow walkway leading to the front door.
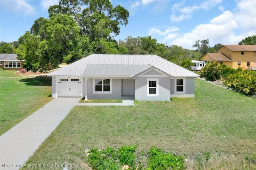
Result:
<instances>
[{"instance_id":1,"label":"pale concrete driveway with narrow walkway leading to the front door","mask_svg":"<svg viewBox=\"0 0 256 170\"><path fill-rule=\"evenodd\" d=\"M76 105L134 106L122 103L78 103L80 98L55 98L0 136L0 170L18 170Z\"/></svg>"}]
</instances>

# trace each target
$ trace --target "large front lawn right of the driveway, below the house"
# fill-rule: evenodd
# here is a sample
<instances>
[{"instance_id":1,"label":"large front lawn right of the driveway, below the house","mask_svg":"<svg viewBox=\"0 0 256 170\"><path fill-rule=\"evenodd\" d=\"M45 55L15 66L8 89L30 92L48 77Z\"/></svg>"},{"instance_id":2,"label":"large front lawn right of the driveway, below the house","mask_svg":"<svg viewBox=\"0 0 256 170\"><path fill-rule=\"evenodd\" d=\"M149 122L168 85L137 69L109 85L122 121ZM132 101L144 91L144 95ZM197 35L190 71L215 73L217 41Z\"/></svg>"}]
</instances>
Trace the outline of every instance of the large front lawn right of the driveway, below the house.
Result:
<instances>
[{"instance_id":1,"label":"large front lawn right of the driveway, below the house","mask_svg":"<svg viewBox=\"0 0 256 170\"><path fill-rule=\"evenodd\" d=\"M76 106L27 164L79 168L88 161L85 148L138 145L138 150L155 146L184 155L188 169L256 169L256 100L199 79L195 83L196 98Z\"/></svg>"}]
</instances>

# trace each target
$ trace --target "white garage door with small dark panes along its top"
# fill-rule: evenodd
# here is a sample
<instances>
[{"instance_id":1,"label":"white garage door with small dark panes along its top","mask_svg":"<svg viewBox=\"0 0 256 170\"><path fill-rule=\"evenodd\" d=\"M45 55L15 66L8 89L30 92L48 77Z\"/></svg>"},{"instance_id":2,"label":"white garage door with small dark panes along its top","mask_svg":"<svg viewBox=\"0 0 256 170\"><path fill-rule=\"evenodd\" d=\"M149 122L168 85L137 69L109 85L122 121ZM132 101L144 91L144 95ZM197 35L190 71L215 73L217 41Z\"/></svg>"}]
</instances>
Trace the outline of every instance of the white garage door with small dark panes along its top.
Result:
<instances>
[{"instance_id":1,"label":"white garage door with small dark panes along its top","mask_svg":"<svg viewBox=\"0 0 256 170\"><path fill-rule=\"evenodd\" d=\"M60 78L58 97L81 97L82 78Z\"/></svg>"}]
</instances>

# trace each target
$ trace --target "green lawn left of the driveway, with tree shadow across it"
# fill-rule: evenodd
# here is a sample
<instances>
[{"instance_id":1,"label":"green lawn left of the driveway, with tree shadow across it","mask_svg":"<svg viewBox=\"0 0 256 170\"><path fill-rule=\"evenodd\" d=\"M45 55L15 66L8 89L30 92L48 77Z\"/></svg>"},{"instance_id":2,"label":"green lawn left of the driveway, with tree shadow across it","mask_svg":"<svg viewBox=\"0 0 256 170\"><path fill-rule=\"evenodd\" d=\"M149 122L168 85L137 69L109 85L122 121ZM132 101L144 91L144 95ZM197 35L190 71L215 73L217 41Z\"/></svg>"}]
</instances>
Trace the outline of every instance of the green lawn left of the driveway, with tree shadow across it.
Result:
<instances>
[{"instance_id":1,"label":"green lawn left of the driveway, with tree shadow across it","mask_svg":"<svg viewBox=\"0 0 256 170\"><path fill-rule=\"evenodd\" d=\"M52 100L50 78L14 72L0 70L0 135Z\"/></svg>"}]
</instances>

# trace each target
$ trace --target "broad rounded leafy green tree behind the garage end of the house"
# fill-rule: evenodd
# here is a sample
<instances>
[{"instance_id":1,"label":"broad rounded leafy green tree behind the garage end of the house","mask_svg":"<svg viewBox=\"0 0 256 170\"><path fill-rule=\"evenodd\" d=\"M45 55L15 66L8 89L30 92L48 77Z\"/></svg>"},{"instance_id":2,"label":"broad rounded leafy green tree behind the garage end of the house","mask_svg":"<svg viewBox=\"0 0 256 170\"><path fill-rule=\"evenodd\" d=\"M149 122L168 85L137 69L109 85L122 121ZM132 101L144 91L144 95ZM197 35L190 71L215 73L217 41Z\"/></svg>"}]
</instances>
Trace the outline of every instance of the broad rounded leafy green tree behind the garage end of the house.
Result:
<instances>
[{"instance_id":1,"label":"broad rounded leafy green tree behind the garage end of the house","mask_svg":"<svg viewBox=\"0 0 256 170\"><path fill-rule=\"evenodd\" d=\"M25 59L24 66L34 72L48 71L60 63L71 63L88 53L86 37L79 35L80 29L71 15L58 14L49 19L39 18L31 31L20 37L19 59ZM24 52L25 51L25 52Z\"/></svg>"}]
</instances>

